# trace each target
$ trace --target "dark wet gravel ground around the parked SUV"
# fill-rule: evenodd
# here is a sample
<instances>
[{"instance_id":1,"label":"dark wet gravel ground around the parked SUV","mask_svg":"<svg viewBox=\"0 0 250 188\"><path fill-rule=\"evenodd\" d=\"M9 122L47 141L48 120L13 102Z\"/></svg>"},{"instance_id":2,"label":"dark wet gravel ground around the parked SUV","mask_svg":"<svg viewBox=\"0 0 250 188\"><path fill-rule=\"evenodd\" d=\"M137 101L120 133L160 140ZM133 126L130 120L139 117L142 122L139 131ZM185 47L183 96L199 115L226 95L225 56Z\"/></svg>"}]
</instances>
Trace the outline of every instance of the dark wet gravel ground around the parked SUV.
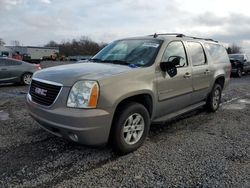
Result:
<instances>
[{"instance_id":1,"label":"dark wet gravel ground around the parked SUV","mask_svg":"<svg viewBox=\"0 0 250 188\"><path fill-rule=\"evenodd\" d=\"M0 187L250 187L249 83L232 78L216 113L152 125L126 156L45 132L25 109L28 87L0 86Z\"/></svg>"}]
</instances>

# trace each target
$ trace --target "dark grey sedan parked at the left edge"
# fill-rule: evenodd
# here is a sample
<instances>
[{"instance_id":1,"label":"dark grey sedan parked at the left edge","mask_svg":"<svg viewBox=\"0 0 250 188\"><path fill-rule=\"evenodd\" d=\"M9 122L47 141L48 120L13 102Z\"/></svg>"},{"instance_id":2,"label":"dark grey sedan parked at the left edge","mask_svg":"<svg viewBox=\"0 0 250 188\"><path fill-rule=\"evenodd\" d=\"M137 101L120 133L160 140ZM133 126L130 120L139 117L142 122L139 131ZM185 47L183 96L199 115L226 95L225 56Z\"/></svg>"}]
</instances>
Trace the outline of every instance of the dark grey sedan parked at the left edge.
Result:
<instances>
[{"instance_id":1,"label":"dark grey sedan parked at the left edge","mask_svg":"<svg viewBox=\"0 0 250 188\"><path fill-rule=\"evenodd\" d=\"M40 70L40 64L0 57L0 83L20 83L29 85L34 72Z\"/></svg>"}]
</instances>

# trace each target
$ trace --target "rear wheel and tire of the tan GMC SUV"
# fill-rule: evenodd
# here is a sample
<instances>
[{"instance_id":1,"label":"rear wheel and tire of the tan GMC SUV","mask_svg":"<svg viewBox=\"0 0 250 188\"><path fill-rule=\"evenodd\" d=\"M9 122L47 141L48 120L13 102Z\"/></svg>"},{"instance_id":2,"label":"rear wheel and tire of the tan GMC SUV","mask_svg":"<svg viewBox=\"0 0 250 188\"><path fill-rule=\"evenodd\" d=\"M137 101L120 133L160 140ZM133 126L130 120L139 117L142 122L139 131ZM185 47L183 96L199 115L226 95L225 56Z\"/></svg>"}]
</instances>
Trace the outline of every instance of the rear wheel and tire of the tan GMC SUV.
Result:
<instances>
[{"instance_id":1,"label":"rear wheel and tire of the tan GMC SUV","mask_svg":"<svg viewBox=\"0 0 250 188\"><path fill-rule=\"evenodd\" d=\"M220 84L215 84L211 93L207 98L206 107L210 112L216 112L220 107L222 87Z\"/></svg>"}]
</instances>

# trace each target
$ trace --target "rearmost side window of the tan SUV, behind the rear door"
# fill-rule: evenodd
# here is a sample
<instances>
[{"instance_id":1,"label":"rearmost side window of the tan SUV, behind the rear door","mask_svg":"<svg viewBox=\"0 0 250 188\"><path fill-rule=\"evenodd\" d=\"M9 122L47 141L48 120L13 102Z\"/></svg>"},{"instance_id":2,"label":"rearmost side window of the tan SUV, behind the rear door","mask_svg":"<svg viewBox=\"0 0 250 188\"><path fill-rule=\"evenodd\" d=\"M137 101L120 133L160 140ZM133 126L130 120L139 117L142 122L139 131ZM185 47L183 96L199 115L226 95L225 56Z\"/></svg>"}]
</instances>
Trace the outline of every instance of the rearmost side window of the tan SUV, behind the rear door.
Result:
<instances>
[{"instance_id":1,"label":"rearmost side window of the tan SUV, behind the rear door","mask_svg":"<svg viewBox=\"0 0 250 188\"><path fill-rule=\"evenodd\" d=\"M205 47L212 58L213 63L228 63L229 57L226 49L219 44L206 43Z\"/></svg>"}]
</instances>

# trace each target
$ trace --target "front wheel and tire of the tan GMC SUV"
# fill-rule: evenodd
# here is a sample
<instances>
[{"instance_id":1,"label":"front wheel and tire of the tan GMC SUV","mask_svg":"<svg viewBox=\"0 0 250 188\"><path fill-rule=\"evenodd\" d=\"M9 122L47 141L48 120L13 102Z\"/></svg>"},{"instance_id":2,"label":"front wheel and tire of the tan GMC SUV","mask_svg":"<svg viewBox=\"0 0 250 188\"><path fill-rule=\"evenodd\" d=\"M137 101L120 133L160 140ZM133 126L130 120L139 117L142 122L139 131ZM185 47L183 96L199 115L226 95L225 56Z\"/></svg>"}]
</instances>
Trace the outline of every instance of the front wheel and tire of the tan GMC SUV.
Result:
<instances>
[{"instance_id":1,"label":"front wheel and tire of the tan GMC SUV","mask_svg":"<svg viewBox=\"0 0 250 188\"><path fill-rule=\"evenodd\" d=\"M111 144L119 154L139 148L148 135L150 116L139 103L130 102L118 109L111 131Z\"/></svg>"}]
</instances>

